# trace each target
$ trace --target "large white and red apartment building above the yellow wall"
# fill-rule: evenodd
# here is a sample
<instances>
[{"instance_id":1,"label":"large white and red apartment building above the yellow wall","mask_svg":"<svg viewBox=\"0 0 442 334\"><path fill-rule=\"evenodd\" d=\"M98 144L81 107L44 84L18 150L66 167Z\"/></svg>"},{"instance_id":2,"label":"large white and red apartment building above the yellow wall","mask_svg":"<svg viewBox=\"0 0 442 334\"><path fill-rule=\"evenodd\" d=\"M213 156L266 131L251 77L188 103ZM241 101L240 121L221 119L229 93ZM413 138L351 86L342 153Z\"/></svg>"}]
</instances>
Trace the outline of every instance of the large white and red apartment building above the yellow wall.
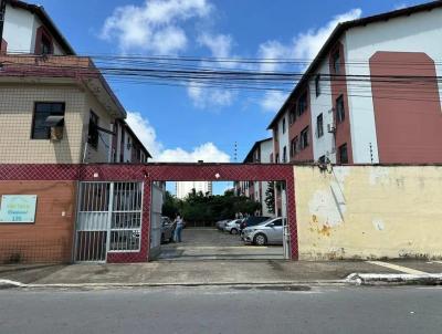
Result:
<instances>
[{"instance_id":1,"label":"large white and red apartment building above the yellow wall","mask_svg":"<svg viewBox=\"0 0 442 334\"><path fill-rule=\"evenodd\" d=\"M276 163L442 163L442 1L340 23L269 125Z\"/></svg>"}]
</instances>

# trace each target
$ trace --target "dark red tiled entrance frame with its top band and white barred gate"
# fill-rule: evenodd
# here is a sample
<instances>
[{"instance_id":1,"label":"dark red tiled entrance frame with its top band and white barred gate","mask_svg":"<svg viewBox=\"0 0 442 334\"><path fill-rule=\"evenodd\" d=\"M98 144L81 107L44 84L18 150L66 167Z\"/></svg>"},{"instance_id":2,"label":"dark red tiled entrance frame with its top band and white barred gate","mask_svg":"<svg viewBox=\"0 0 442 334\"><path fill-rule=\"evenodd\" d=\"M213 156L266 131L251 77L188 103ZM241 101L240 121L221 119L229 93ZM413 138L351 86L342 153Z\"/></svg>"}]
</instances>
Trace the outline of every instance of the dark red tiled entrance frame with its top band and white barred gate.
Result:
<instances>
[{"instance_id":1,"label":"dark red tiled entrance frame with its top band and white barred gate","mask_svg":"<svg viewBox=\"0 0 442 334\"><path fill-rule=\"evenodd\" d=\"M155 181L284 181L288 253L292 260L297 260L294 167L288 164L46 164L0 167L1 180L80 181L72 259L114 263L146 262L149 259L151 187Z\"/></svg>"}]
</instances>

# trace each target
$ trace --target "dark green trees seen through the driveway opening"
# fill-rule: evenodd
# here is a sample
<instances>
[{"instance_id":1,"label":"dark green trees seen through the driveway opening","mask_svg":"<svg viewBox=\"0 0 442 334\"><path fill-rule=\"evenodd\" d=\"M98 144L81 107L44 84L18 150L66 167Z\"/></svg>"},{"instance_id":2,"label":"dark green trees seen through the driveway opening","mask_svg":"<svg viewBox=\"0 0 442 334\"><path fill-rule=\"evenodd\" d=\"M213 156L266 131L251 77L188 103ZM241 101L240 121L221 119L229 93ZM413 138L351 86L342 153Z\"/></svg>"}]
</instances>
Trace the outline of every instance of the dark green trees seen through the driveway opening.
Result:
<instances>
[{"instance_id":1,"label":"dark green trees seen through the driveway opening","mask_svg":"<svg viewBox=\"0 0 442 334\"><path fill-rule=\"evenodd\" d=\"M260 202L245 196L234 196L233 191L217 196L193 191L183 200L167 191L162 215L175 218L180 212L186 221L211 222L234 218L238 212L253 215L260 209Z\"/></svg>"}]
</instances>

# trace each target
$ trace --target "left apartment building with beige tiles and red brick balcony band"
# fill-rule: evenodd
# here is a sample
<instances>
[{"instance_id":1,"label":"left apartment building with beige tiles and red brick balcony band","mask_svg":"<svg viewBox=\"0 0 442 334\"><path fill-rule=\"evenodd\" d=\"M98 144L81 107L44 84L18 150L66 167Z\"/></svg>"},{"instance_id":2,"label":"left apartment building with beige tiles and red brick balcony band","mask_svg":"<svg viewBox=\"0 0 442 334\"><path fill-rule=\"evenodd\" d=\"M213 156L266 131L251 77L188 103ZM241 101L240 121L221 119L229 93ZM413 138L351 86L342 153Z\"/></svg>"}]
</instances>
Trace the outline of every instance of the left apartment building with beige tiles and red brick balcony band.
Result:
<instances>
[{"instance_id":1,"label":"left apartment building with beige tiles and red brick balcony band","mask_svg":"<svg viewBox=\"0 0 442 334\"><path fill-rule=\"evenodd\" d=\"M42 7L7 0L0 31L0 163L147 161L99 70Z\"/></svg>"}]
</instances>

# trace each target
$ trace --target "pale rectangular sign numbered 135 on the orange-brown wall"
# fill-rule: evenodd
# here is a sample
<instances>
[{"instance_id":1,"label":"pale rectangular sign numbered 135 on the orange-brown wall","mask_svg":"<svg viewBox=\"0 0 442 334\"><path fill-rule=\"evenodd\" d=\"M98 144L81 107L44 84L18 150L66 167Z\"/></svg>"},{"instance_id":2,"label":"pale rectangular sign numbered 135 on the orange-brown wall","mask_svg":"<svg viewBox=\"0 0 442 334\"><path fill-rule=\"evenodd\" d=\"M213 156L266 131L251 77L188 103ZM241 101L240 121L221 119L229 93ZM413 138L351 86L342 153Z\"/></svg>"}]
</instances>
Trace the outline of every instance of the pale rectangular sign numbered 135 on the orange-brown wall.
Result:
<instances>
[{"instance_id":1,"label":"pale rectangular sign numbered 135 on the orange-brown wall","mask_svg":"<svg viewBox=\"0 0 442 334\"><path fill-rule=\"evenodd\" d=\"M2 195L1 222L35 222L36 195Z\"/></svg>"}]
</instances>

